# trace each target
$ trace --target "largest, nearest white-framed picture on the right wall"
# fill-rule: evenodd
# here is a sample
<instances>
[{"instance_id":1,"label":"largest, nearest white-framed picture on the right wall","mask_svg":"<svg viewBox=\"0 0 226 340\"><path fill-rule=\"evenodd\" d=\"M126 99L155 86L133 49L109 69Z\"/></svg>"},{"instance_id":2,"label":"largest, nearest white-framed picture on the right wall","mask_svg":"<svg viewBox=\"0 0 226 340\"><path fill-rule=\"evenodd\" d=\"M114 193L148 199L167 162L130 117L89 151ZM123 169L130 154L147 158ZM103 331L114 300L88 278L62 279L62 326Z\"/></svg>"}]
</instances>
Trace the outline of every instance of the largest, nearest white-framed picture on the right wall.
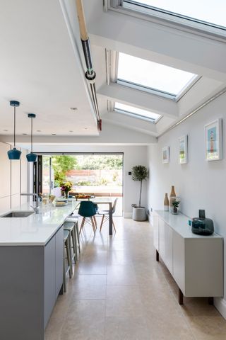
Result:
<instances>
[{"instance_id":1,"label":"largest, nearest white-framed picture on the right wall","mask_svg":"<svg viewBox=\"0 0 226 340\"><path fill-rule=\"evenodd\" d=\"M222 119L205 125L205 156L207 161L222 159Z\"/></svg>"}]
</instances>

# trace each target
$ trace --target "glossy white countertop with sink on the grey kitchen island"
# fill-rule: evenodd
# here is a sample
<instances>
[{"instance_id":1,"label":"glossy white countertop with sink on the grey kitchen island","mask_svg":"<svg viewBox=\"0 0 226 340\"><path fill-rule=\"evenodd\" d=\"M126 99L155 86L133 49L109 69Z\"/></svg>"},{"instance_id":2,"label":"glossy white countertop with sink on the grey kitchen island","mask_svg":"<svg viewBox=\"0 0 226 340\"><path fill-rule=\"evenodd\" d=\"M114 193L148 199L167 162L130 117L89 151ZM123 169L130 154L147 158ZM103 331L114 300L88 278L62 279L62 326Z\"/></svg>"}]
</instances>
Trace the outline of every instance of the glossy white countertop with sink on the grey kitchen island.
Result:
<instances>
[{"instance_id":1,"label":"glossy white countertop with sink on the grey kitchen island","mask_svg":"<svg viewBox=\"0 0 226 340\"><path fill-rule=\"evenodd\" d=\"M0 246L44 246L57 232L78 202L69 201L65 206L47 208L40 205L40 213L28 217L0 217ZM8 211L31 210L29 204Z\"/></svg>"}]
</instances>

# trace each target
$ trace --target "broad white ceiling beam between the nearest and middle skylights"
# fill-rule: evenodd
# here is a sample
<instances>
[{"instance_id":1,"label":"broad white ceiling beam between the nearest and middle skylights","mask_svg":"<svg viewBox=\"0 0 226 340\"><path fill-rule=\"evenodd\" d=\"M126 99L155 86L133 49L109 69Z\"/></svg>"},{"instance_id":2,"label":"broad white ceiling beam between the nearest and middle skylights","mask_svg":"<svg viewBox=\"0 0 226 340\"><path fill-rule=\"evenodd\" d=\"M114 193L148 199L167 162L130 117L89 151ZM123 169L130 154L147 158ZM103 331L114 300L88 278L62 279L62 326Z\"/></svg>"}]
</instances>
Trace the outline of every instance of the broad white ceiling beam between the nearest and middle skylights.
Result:
<instances>
[{"instance_id":1,"label":"broad white ceiling beam between the nearest and middle skylights","mask_svg":"<svg viewBox=\"0 0 226 340\"><path fill-rule=\"evenodd\" d=\"M225 42L115 11L105 13L97 0L85 0L84 5L93 45L225 81Z\"/></svg>"}]
</instances>

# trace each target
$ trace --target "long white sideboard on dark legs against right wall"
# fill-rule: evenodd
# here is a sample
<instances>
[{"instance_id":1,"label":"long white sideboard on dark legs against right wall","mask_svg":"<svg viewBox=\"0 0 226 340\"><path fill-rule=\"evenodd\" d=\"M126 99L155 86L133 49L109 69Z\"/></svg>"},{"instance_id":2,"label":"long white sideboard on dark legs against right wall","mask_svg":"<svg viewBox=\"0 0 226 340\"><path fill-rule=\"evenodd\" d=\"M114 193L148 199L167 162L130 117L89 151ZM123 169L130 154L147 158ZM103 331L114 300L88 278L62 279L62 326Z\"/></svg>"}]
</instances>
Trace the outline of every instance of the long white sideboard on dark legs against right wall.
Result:
<instances>
[{"instance_id":1,"label":"long white sideboard on dark legs against right wall","mask_svg":"<svg viewBox=\"0 0 226 340\"><path fill-rule=\"evenodd\" d=\"M153 212L154 246L179 287L179 303L186 297L223 296L223 238L196 235L189 217Z\"/></svg>"}]
</instances>

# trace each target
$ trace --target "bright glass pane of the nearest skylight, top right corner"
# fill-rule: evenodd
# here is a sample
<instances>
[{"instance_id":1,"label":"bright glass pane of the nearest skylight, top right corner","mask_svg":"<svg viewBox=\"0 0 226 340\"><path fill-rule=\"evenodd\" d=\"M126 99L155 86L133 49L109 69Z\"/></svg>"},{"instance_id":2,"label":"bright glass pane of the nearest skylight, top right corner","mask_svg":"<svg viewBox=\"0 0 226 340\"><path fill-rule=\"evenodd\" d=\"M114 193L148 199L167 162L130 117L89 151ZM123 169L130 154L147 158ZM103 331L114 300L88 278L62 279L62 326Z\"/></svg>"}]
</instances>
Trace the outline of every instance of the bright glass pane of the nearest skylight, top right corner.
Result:
<instances>
[{"instance_id":1,"label":"bright glass pane of the nearest skylight, top right corner","mask_svg":"<svg viewBox=\"0 0 226 340\"><path fill-rule=\"evenodd\" d=\"M138 3L161 8L165 11L177 13L182 16L205 21L218 26L226 26L226 1L225 0L136 0L124 3Z\"/></svg>"}]
</instances>

